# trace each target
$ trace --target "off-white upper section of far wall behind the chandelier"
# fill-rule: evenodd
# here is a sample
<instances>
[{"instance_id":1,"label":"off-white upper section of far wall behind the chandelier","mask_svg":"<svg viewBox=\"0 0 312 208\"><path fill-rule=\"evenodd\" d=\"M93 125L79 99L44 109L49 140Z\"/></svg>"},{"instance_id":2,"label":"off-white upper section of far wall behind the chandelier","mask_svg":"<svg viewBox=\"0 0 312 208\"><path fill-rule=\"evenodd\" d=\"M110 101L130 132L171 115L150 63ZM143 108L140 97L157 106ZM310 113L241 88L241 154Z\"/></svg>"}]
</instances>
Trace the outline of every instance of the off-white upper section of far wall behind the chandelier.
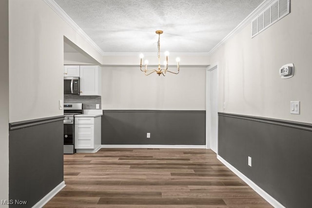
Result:
<instances>
[{"instance_id":1,"label":"off-white upper section of far wall behind the chandelier","mask_svg":"<svg viewBox=\"0 0 312 208\"><path fill-rule=\"evenodd\" d=\"M159 77L139 67L102 67L102 109L205 110L205 73L182 67Z\"/></svg>"}]
</instances>

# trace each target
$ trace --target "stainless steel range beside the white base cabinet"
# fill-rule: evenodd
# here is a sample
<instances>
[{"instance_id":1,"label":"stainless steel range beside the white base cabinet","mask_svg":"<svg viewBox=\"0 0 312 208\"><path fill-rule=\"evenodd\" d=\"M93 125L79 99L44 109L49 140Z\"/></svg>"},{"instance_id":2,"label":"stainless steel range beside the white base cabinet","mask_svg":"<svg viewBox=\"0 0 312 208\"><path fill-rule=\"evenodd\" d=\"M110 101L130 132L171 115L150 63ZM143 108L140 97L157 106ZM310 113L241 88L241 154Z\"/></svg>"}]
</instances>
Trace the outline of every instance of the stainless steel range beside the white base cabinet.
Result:
<instances>
[{"instance_id":1,"label":"stainless steel range beside the white base cabinet","mask_svg":"<svg viewBox=\"0 0 312 208\"><path fill-rule=\"evenodd\" d=\"M75 115L82 114L81 103L64 104L64 154L74 154L75 149Z\"/></svg>"}]
</instances>

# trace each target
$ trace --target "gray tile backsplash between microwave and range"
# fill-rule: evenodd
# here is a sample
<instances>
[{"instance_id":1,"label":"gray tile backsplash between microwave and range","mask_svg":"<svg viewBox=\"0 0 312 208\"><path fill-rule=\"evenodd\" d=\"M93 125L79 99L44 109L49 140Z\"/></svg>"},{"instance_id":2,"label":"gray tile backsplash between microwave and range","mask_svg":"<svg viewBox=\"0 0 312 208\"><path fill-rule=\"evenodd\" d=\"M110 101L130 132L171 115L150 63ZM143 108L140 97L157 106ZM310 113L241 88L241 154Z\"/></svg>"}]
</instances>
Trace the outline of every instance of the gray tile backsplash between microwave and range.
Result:
<instances>
[{"instance_id":1,"label":"gray tile backsplash between microwave and range","mask_svg":"<svg viewBox=\"0 0 312 208\"><path fill-rule=\"evenodd\" d=\"M83 109L101 109L101 96L64 95L64 103L82 103Z\"/></svg>"}]
</instances>

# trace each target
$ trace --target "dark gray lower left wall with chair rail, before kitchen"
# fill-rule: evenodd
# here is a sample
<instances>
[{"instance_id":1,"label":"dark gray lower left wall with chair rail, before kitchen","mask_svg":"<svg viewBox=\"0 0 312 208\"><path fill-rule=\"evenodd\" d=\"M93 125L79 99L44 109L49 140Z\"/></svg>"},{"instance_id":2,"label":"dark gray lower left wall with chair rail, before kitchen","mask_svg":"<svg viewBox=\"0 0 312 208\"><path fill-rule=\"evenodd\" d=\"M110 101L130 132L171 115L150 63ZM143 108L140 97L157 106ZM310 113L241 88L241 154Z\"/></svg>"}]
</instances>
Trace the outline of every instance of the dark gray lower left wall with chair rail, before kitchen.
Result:
<instances>
[{"instance_id":1,"label":"dark gray lower left wall with chair rail, before kitchen","mask_svg":"<svg viewBox=\"0 0 312 208\"><path fill-rule=\"evenodd\" d=\"M63 181L63 119L10 124L9 198L26 200L22 207L33 207Z\"/></svg>"}]
</instances>

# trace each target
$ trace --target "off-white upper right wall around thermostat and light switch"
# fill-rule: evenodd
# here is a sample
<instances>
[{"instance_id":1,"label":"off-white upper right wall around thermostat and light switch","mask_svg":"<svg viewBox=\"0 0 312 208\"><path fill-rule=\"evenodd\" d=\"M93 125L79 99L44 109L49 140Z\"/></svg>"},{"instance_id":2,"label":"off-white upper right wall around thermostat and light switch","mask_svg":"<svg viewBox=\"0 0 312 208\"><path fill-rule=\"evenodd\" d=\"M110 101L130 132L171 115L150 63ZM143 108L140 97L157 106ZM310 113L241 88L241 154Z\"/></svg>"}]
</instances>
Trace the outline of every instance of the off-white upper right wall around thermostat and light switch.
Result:
<instances>
[{"instance_id":1,"label":"off-white upper right wall around thermostat and light switch","mask_svg":"<svg viewBox=\"0 0 312 208\"><path fill-rule=\"evenodd\" d=\"M219 111L312 123L311 0L291 1L291 13L251 39L251 24L219 47ZM278 69L294 63L293 78ZM290 114L290 101L301 114ZM226 109L222 104L226 102Z\"/></svg>"}]
</instances>

